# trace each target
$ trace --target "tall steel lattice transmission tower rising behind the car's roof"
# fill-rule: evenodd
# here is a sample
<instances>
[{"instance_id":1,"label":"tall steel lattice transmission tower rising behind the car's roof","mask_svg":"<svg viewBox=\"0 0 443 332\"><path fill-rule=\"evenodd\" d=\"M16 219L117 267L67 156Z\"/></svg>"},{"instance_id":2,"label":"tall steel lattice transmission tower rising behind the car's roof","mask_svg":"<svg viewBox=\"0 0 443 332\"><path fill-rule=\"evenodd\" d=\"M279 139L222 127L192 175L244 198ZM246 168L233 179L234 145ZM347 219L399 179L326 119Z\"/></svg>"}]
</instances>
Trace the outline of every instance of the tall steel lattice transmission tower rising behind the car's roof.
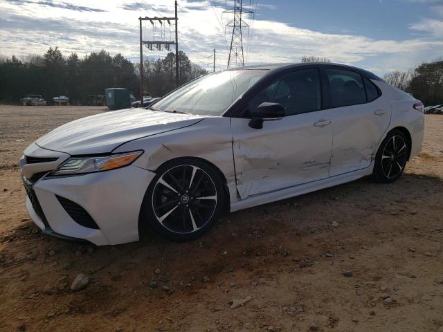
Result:
<instances>
[{"instance_id":1,"label":"tall steel lattice transmission tower rising behind the car's roof","mask_svg":"<svg viewBox=\"0 0 443 332\"><path fill-rule=\"evenodd\" d=\"M226 24L227 28L233 29L230 39L228 68L230 66L244 66L242 28L249 28L249 25L243 17L253 15L254 12L253 10L245 8L242 0L234 0L233 8L228 8L224 12L234 15L233 20Z\"/></svg>"}]
</instances>

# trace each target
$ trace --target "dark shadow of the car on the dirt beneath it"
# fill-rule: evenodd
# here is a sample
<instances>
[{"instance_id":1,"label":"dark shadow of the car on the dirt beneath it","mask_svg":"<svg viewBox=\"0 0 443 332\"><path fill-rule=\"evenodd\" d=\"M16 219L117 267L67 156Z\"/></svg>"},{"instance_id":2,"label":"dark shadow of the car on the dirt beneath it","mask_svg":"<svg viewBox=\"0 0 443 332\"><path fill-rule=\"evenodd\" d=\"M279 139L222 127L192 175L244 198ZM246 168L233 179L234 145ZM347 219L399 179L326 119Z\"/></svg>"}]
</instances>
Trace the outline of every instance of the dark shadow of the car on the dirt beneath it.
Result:
<instances>
[{"instance_id":1,"label":"dark shadow of the car on the dirt beneath it","mask_svg":"<svg viewBox=\"0 0 443 332\"><path fill-rule=\"evenodd\" d=\"M196 268L204 266L201 261L210 261L211 264L219 261L219 270L224 270L233 259L246 259L248 251L269 251L270 247L279 248L278 243L291 242L295 237L330 231L334 228L334 222L357 225L377 213L397 216L417 205L422 197L431 198L438 194L441 188L441 179L432 176L404 174L399 181L390 185L372 183L368 178L363 178L228 214L204 237L187 243L170 242L152 234L150 239L143 242L103 247L92 244L79 246L77 243L43 237L32 221L26 221L8 237L1 239L6 243L1 255L3 266L9 265L4 261L15 262L12 264L15 265L19 261L26 261L26 255L35 255L30 248L37 246L39 260L57 259L53 267L55 270L67 264L92 275L112 266L125 267L132 260L137 261L132 265L151 268L162 266L163 262L173 267L174 261L183 264L189 260L189 265L186 264L184 268ZM432 200L428 203L432 205ZM402 208L398 210L397 205ZM28 252L25 248L29 248ZM54 252L57 255L52 255ZM5 255L12 255L15 259L6 259Z\"/></svg>"}]
</instances>

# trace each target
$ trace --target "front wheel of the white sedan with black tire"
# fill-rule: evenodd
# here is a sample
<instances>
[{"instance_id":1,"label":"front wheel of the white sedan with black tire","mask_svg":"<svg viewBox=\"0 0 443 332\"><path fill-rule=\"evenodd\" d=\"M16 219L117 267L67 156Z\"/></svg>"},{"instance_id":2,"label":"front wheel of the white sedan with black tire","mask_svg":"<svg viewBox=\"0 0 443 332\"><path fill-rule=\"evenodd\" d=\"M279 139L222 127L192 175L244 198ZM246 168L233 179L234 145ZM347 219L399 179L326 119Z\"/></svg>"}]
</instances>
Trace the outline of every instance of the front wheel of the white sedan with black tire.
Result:
<instances>
[{"instance_id":1,"label":"front wheel of the white sedan with black tire","mask_svg":"<svg viewBox=\"0 0 443 332\"><path fill-rule=\"evenodd\" d=\"M141 239L149 230L171 241L197 239L213 228L224 199L222 179L208 163L196 158L171 160L156 170L143 198Z\"/></svg>"}]
</instances>

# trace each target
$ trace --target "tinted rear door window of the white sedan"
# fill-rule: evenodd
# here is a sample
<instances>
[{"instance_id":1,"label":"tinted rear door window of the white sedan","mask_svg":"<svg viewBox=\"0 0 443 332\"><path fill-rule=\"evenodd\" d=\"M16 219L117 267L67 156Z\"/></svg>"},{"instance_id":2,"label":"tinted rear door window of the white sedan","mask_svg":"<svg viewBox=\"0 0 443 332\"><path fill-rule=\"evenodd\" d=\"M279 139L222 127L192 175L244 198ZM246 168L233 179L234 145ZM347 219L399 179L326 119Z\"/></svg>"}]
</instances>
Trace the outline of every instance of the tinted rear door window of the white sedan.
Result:
<instances>
[{"instance_id":1,"label":"tinted rear door window of the white sedan","mask_svg":"<svg viewBox=\"0 0 443 332\"><path fill-rule=\"evenodd\" d=\"M327 68L330 107L345 107L366 102L365 87L359 73Z\"/></svg>"}]
</instances>

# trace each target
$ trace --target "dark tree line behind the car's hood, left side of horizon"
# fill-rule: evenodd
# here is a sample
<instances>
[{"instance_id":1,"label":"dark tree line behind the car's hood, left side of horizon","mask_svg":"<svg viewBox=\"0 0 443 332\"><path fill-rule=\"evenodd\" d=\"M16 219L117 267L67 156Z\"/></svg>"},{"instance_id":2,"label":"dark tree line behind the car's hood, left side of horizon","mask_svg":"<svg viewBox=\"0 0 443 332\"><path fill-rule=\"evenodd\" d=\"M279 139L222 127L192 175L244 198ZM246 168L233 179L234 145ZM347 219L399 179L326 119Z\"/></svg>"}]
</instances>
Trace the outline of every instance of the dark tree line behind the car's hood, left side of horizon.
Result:
<instances>
[{"instance_id":1,"label":"dark tree line behind the car's hood, left side of horizon","mask_svg":"<svg viewBox=\"0 0 443 332\"><path fill-rule=\"evenodd\" d=\"M143 73L144 90L153 97L172 91L176 88L174 53L163 59L145 59ZM180 84L205 73L179 52ZM0 77L0 102L18 102L27 94L37 94L48 103L55 96L66 95L71 101L87 104L90 96L104 95L111 87L140 96L140 65L120 53L111 57L106 50L80 58L77 53L65 57L57 47L50 47L44 55L0 57Z\"/></svg>"}]
</instances>

